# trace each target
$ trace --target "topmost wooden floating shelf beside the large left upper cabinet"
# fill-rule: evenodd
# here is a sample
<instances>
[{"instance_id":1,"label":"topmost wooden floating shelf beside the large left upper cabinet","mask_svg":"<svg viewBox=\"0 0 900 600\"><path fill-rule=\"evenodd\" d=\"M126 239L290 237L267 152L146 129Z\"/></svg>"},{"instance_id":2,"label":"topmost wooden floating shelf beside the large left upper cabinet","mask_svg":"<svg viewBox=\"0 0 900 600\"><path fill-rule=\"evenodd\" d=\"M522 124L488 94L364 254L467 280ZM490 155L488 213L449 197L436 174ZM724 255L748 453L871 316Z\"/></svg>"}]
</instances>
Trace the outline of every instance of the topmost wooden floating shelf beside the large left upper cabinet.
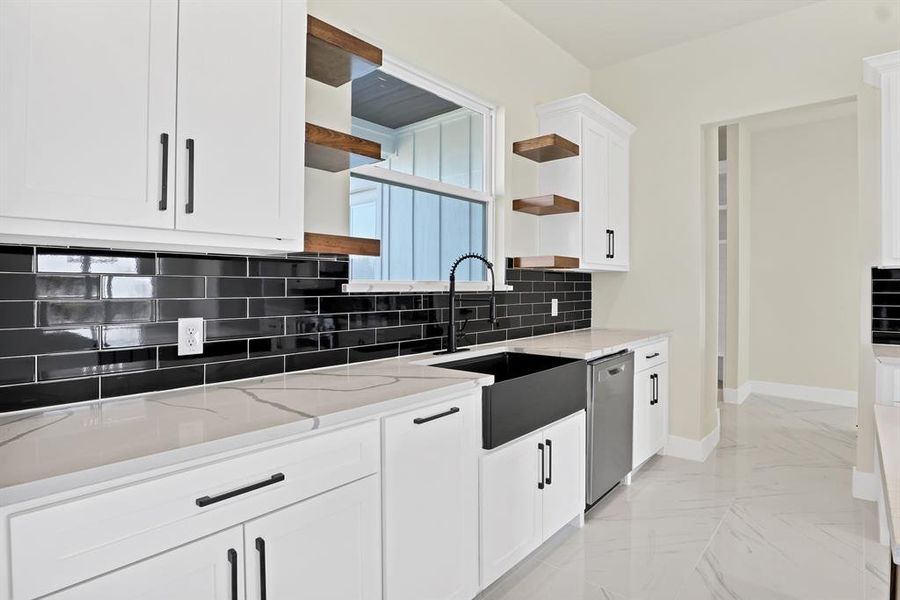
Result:
<instances>
[{"instance_id":1,"label":"topmost wooden floating shelf beside the large left upper cabinet","mask_svg":"<svg viewBox=\"0 0 900 600\"><path fill-rule=\"evenodd\" d=\"M381 66L381 48L313 16L306 19L306 76L340 87Z\"/></svg>"}]
</instances>

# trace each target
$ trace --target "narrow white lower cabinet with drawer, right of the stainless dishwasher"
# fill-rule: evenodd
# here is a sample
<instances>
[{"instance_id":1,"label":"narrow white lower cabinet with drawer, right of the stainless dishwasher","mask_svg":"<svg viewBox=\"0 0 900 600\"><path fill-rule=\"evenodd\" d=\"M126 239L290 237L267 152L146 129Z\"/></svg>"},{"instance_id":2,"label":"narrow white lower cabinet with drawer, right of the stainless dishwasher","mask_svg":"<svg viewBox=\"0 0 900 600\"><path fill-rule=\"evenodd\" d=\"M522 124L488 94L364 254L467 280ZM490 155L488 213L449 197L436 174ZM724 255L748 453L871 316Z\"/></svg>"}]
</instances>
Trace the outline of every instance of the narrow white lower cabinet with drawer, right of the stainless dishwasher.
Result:
<instances>
[{"instance_id":1,"label":"narrow white lower cabinet with drawer, right of the stainless dishwasher","mask_svg":"<svg viewBox=\"0 0 900 600\"><path fill-rule=\"evenodd\" d=\"M665 448L668 415L668 341L663 341L635 350L632 468Z\"/></svg>"}]
</instances>

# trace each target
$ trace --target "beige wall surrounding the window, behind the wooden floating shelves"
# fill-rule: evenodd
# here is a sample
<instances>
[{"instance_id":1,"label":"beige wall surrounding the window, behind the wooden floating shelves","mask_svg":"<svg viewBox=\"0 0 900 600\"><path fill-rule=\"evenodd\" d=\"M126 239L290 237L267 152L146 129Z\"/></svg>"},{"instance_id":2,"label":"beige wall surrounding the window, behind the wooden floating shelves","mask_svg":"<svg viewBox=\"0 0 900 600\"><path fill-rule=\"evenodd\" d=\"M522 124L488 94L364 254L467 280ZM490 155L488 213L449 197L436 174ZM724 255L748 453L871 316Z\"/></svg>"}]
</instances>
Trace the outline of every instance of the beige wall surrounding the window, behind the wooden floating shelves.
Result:
<instances>
[{"instance_id":1,"label":"beige wall surrounding the window, behind the wooden floating shelves","mask_svg":"<svg viewBox=\"0 0 900 600\"><path fill-rule=\"evenodd\" d=\"M512 142L537 135L537 104L588 91L588 69L498 0L310 0L309 12L501 109L497 183L505 243L499 247L509 256L536 253L537 219L512 213L510 205L538 193L538 169L513 156ZM339 123L344 106L349 115L349 85L332 90L312 82L308 93L310 120ZM307 169L308 231L347 232L347 177Z\"/></svg>"}]
</instances>

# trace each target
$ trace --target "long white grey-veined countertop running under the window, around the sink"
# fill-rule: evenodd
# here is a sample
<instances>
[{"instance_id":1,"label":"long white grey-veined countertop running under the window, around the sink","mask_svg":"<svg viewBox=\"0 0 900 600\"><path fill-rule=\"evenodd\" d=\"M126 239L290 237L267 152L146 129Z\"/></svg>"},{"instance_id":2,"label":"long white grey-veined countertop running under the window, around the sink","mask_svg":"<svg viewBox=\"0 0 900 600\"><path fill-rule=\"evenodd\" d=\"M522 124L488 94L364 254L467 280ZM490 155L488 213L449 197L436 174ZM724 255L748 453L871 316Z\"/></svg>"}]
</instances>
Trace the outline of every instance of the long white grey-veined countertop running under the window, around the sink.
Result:
<instances>
[{"instance_id":1,"label":"long white grey-veined countertop running under the window, around the sink","mask_svg":"<svg viewBox=\"0 0 900 600\"><path fill-rule=\"evenodd\" d=\"M349 366L0 415L0 506L414 408L493 383L442 369L501 350L592 359L661 339L583 329Z\"/></svg>"}]
</instances>

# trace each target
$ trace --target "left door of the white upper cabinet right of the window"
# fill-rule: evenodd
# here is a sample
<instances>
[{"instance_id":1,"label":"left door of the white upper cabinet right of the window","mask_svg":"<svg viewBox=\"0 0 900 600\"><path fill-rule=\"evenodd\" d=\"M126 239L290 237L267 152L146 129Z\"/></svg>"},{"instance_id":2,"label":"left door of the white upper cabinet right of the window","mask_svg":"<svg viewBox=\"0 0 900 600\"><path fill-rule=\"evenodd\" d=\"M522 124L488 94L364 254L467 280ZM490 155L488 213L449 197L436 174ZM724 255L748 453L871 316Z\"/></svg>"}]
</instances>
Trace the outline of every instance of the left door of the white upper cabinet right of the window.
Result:
<instances>
[{"instance_id":1,"label":"left door of the white upper cabinet right of the window","mask_svg":"<svg viewBox=\"0 0 900 600\"><path fill-rule=\"evenodd\" d=\"M609 133L584 119L581 133L582 161L582 267L608 264L612 248L609 227Z\"/></svg>"}]
</instances>

